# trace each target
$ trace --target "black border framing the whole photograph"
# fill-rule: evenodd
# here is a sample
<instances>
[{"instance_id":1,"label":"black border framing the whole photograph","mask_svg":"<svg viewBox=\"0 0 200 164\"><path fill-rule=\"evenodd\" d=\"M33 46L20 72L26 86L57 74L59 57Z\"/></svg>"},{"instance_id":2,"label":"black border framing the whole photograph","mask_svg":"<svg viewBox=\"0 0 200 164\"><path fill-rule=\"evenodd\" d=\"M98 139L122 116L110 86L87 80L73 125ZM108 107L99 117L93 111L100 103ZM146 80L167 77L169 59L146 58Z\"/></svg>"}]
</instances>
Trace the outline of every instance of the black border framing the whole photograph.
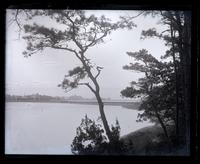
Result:
<instances>
[{"instance_id":1,"label":"black border framing the whole photograph","mask_svg":"<svg viewBox=\"0 0 200 164\"><path fill-rule=\"evenodd\" d=\"M5 155L5 59L6 59L6 28L5 17L8 8L23 9L102 9L102 10L191 10L192 11L192 106L191 106L191 155L190 156L71 156L71 155ZM197 3L192 1L145 1L140 0L131 2L130 0L112 1L84 1L84 0L7 0L0 1L0 36L1 36L1 55L0 55L0 71L1 71L1 88L0 88L0 161L5 159L64 159L64 160L193 160L198 157L198 63L199 60L199 8Z\"/></svg>"}]
</instances>

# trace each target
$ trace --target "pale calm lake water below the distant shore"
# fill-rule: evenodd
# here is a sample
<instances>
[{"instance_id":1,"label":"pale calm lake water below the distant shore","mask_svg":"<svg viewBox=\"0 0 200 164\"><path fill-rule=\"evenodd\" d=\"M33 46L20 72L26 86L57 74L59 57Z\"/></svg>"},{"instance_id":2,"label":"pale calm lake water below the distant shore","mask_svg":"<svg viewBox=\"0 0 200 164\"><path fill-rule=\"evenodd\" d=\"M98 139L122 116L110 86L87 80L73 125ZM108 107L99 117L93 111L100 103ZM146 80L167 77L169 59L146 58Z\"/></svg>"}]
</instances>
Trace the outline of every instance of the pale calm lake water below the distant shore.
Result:
<instances>
[{"instance_id":1,"label":"pale calm lake water below the distant shore","mask_svg":"<svg viewBox=\"0 0 200 164\"><path fill-rule=\"evenodd\" d=\"M121 135L151 123L136 123L138 111L105 106L109 124L119 120ZM6 154L71 154L76 128L87 114L97 120L98 106L64 103L6 103Z\"/></svg>"}]
</instances>

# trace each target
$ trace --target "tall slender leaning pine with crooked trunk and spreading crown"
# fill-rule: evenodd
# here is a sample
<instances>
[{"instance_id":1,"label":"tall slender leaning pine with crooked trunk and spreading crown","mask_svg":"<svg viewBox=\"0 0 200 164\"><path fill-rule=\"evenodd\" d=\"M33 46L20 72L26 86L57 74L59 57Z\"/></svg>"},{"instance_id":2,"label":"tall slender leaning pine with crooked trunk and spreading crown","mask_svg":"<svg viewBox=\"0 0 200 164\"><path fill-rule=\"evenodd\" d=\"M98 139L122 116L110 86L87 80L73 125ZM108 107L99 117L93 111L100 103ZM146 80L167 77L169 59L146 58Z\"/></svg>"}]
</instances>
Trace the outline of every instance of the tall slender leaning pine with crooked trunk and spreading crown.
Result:
<instances>
[{"instance_id":1,"label":"tall slender leaning pine with crooked trunk and spreading crown","mask_svg":"<svg viewBox=\"0 0 200 164\"><path fill-rule=\"evenodd\" d=\"M23 26L25 32L23 39L27 41L26 51L23 54L25 57L29 57L45 48L52 48L74 55L81 62L81 65L70 70L58 86L66 91L80 85L90 89L97 99L106 135L111 142L112 134L104 113L104 103L97 80L102 67L91 62L87 57L87 51L95 45L103 43L112 31L124 28L130 30L135 27L136 25L131 21L135 17L120 17L119 21L112 22L104 15L101 17L88 16L82 10L17 10L14 16L18 25L19 19L17 18L20 12L27 16L27 19L47 17L54 21L55 26L52 28L45 27L45 24L42 26L36 23L26 23ZM60 26L62 28L59 28ZM85 78L88 79L88 82L83 82Z\"/></svg>"}]
</instances>

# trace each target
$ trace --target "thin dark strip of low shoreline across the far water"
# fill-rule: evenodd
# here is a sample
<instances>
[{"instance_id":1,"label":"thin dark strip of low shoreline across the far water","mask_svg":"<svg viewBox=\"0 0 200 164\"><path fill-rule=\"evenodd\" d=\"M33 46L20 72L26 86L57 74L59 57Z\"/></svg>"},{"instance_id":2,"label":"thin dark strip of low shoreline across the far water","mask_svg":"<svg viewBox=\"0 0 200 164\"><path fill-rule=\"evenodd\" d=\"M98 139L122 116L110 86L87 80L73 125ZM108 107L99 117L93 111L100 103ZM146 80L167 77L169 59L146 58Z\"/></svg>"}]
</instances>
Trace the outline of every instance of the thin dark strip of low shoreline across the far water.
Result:
<instances>
[{"instance_id":1,"label":"thin dark strip of low shoreline across the far water","mask_svg":"<svg viewBox=\"0 0 200 164\"><path fill-rule=\"evenodd\" d=\"M31 102L31 103L67 103L67 104L83 104L83 105L98 105L96 101L6 101L6 102ZM139 102L120 102L120 101L105 101L104 105L122 106L128 109L138 109Z\"/></svg>"}]
</instances>

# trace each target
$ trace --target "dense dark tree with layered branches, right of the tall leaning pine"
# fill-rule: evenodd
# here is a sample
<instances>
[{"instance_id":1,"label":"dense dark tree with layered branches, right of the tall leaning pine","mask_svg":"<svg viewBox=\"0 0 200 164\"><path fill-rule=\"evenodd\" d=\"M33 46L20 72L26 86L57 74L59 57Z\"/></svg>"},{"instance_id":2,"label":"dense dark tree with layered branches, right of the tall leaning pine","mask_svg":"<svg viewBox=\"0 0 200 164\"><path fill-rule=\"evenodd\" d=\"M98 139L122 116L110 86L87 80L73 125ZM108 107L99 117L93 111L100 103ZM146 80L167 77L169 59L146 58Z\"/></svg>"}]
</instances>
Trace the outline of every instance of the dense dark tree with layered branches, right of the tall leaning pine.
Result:
<instances>
[{"instance_id":1,"label":"dense dark tree with layered branches, right of the tall leaning pine","mask_svg":"<svg viewBox=\"0 0 200 164\"><path fill-rule=\"evenodd\" d=\"M144 77L132 81L130 87L121 91L122 96L141 98L142 103L137 121L150 119L159 123L166 139L169 139L167 127L175 122L174 118L174 73L172 63L161 62L142 49L138 52L127 52L134 59L133 63L125 65L123 69L143 73Z\"/></svg>"}]
</instances>

